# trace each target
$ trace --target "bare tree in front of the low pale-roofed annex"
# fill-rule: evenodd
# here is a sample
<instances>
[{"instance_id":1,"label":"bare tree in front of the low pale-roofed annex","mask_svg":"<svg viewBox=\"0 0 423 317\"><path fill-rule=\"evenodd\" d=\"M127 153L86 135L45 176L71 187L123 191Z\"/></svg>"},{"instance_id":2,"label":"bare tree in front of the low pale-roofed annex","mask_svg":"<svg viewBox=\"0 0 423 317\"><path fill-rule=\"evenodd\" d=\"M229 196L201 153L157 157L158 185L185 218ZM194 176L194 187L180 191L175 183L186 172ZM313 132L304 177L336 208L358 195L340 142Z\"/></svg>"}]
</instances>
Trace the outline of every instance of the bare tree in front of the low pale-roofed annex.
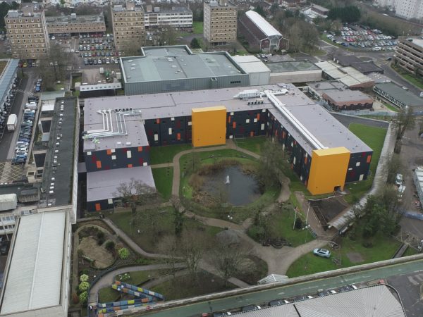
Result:
<instances>
[{"instance_id":1,"label":"bare tree in front of the low pale-roofed annex","mask_svg":"<svg viewBox=\"0 0 423 317\"><path fill-rule=\"evenodd\" d=\"M140 180L131 178L129 182L123 182L114 192L114 197L121 197L123 202L129 204L133 214L137 212L137 206L154 197L156 191L153 187L145 185Z\"/></svg>"}]
</instances>

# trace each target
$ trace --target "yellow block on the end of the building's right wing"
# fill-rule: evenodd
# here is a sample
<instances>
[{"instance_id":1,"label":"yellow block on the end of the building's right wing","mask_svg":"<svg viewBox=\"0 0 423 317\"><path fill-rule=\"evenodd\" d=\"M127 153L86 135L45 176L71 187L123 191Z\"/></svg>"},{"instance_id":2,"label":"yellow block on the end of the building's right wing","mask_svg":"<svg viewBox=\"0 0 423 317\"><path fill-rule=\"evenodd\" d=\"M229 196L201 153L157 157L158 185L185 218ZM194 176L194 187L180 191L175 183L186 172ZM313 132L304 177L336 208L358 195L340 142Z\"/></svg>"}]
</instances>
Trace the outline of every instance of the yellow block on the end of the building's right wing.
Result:
<instances>
[{"instance_id":1,"label":"yellow block on the end of the building's right wing","mask_svg":"<svg viewBox=\"0 0 423 317\"><path fill-rule=\"evenodd\" d=\"M350 151L345 147L318 149L312 152L307 189L314 195L343 190L350 161Z\"/></svg>"}]
</instances>

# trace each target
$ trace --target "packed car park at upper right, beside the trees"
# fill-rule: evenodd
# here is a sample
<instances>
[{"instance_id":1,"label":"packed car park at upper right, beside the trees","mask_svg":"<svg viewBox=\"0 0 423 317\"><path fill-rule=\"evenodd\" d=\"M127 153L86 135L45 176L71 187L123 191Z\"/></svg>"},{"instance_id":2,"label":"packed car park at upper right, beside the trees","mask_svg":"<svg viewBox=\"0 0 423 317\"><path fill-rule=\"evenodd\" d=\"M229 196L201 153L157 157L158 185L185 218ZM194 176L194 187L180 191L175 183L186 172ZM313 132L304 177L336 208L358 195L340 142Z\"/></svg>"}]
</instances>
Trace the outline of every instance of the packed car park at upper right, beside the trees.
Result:
<instances>
[{"instance_id":1,"label":"packed car park at upper right, beside the trees","mask_svg":"<svg viewBox=\"0 0 423 317\"><path fill-rule=\"evenodd\" d=\"M326 35L328 39L343 46L372 51L395 51L397 41L391 35L384 35L380 30L364 29L358 25L342 27L341 36L333 32Z\"/></svg>"}]
</instances>

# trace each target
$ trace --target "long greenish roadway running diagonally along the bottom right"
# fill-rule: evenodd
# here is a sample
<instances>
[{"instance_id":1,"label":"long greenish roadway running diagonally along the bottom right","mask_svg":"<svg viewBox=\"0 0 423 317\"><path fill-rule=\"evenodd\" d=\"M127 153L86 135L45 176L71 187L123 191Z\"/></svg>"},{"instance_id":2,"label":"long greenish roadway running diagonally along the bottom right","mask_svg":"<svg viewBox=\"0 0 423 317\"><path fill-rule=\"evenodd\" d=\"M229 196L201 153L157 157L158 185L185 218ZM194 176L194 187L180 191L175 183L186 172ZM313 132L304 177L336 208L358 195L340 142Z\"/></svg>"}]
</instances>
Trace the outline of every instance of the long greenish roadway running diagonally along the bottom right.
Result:
<instances>
[{"instance_id":1,"label":"long greenish roadway running diagonally along the bottom right","mask_svg":"<svg viewBox=\"0 0 423 317\"><path fill-rule=\"evenodd\" d=\"M395 278L400 275L408 273L418 273L423 270L423 260L412 261L408 263L398 264L394 266L386 266L384 268L375 268L368 271L359 273L350 273L333 278L325 278L322 280L313 280L310 282L302 282L296 285L275 287L271 290L263 290L259 292L252 292L250 294L243 294L235 297L226 297L216 299L209 302L200 302L180 306L173 309L166 309L157 313L145 313L142 316L154 317L187 317L187 316L200 316L201 313L212 311L221 311L226 309L234 309L238 307L247 306L250 304L260 304L269 302L274 299L283 299L294 297L302 294L317 293L320 289L330 289L341 287L344 285L357 284L359 282L367 282L379 280L382 278ZM207 282L207 281L202 281ZM141 314L139 315L141 316ZM419 315L421 316L421 315Z\"/></svg>"}]
</instances>

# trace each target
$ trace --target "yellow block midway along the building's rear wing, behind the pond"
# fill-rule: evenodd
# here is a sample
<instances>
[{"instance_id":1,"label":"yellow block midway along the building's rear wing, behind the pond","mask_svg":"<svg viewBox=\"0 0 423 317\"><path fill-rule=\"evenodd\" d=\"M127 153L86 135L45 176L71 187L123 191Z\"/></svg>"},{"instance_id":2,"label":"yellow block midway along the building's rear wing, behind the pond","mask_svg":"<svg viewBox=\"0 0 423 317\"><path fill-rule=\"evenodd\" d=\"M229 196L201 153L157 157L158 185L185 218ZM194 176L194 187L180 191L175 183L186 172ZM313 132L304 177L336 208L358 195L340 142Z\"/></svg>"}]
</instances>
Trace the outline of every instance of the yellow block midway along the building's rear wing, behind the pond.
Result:
<instances>
[{"instance_id":1,"label":"yellow block midway along the building's rear wing, behind the pond","mask_svg":"<svg viewBox=\"0 0 423 317\"><path fill-rule=\"evenodd\" d=\"M194 147L226 143L226 108L224 106L193 108L191 115Z\"/></svg>"}]
</instances>

